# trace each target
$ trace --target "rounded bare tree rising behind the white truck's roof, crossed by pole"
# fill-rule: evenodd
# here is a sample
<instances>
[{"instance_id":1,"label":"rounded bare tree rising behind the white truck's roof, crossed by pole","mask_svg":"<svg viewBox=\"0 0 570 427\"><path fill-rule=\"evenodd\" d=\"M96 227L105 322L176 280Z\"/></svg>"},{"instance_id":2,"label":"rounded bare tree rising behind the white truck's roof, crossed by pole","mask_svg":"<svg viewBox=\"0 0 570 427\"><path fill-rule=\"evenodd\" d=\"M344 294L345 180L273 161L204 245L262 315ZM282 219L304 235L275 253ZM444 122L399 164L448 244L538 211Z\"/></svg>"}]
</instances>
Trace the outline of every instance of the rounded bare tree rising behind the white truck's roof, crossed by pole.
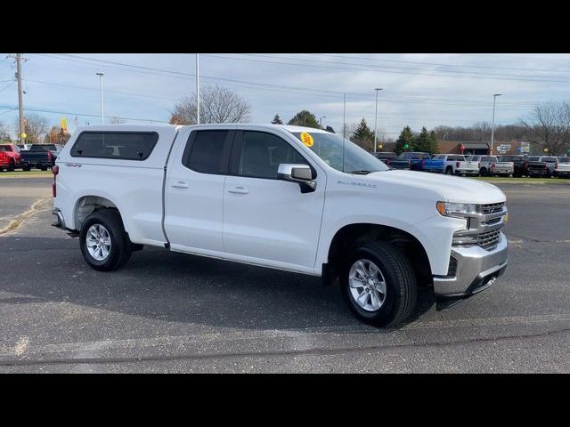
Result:
<instances>
[{"instance_id":1,"label":"rounded bare tree rising behind the white truck's roof, crossed by pole","mask_svg":"<svg viewBox=\"0 0 570 427\"><path fill-rule=\"evenodd\" d=\"M218 85L205 85L199 91L200 123L248 122L251 114L249 102L231 89ZM196 94L184 97L175 105L170 117L173 125L196 124Z\"/></svg>"}]
</instances>

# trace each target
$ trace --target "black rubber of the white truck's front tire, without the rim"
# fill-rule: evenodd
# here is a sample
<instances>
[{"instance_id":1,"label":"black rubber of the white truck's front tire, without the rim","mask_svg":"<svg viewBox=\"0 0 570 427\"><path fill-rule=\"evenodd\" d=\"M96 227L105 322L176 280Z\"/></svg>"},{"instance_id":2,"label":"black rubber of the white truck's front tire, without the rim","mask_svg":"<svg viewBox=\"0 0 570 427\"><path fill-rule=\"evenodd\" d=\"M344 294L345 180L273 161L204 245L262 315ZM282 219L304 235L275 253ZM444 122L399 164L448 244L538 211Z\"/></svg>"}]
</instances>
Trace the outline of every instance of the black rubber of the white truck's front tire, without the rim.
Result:
<instances>
[{"instance_id":1,"label":"black rubber of the white truck's front tire, without the rim","mask_svg":"<svg viewBox=\"0 0 570 427\"><path fill-rule=\"evenodd\" d=\"M348 285L350 268L361 259L374 262L385 278L386 297L376 311L362 309L354 301ZM340 286L346 303L356 318L374 326L397 326L410 316L416 305L418 290L411 263L395 246L387 242L364 243L348 251L340 272Z\"/></svg>"}]
</instances>

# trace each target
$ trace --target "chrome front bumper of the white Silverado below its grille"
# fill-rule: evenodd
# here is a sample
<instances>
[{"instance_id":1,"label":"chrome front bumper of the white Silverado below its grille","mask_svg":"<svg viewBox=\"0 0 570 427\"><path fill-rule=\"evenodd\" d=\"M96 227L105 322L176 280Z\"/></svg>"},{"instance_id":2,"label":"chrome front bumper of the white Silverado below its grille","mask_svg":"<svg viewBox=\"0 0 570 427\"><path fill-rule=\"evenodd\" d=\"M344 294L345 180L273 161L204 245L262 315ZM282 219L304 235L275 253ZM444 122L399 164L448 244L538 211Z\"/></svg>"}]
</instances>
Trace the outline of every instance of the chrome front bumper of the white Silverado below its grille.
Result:
<instances>
[{"instance_id":1,"label":"chrome front bumper of the white Silverado below its grille","mask_svg":"<svg viewBox=\"0 0 570 427\"><path fill-rule=\"evenodd\" d=\"M508 241L501 232L499 244L493 251L480 246L453 247L452 257L457 268L449 276L434 277L436 296L465 297L476 294L493 285L495 278L507 269Z\"/></svg>"}]
</instances>

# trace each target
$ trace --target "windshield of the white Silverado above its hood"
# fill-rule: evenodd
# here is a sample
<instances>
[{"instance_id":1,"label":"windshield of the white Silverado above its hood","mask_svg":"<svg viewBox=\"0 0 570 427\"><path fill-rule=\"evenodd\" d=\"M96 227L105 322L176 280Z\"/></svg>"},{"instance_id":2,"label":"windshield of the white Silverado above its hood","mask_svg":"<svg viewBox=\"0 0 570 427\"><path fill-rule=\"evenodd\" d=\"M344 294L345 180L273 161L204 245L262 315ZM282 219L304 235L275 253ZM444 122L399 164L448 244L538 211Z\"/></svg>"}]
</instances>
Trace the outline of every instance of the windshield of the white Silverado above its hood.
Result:
<instances>
[{"instance_id":1,"label":"windshield of the white Silverado above its hood","mask_svg":"<svg viewBox=\"0 0 570 427\"><path fill-rule=\"evenodd\" d=\"M310 133L313 145L309 147L327 165L346 173L371 173L389 170L389 167L352 141L335 133ZM300 132L293 132L301 140ZM303 141L303 140L301 140ZM343 141L345 143L343 144ZM344 150L343 150L344 145ZM344 165L343 165L344 157Z\"/></svg>"}]
</instances>

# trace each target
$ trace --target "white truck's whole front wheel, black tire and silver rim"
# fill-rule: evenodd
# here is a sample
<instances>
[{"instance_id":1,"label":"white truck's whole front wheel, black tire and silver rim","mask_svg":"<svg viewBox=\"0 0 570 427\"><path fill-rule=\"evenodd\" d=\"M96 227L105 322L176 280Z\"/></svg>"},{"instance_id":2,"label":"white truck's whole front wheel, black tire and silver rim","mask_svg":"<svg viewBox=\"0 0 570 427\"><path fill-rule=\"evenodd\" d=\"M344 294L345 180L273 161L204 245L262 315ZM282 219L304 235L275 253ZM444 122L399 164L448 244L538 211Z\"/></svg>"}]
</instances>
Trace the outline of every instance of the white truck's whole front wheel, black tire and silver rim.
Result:
<instances>
[{"instance_id":1,"label":"white truck's whole front wheel, black tire and silver rim","mask_svg":"<svg viewBox=\"0 0 570 427\"><path fill-rule=\"evenodd\" d=\"M350 251L340 285L354 315L374 326L397 326L410 316L416 304L416 278L411 264L386 242L370 242Z\"/></svg>"}]
</instances>

